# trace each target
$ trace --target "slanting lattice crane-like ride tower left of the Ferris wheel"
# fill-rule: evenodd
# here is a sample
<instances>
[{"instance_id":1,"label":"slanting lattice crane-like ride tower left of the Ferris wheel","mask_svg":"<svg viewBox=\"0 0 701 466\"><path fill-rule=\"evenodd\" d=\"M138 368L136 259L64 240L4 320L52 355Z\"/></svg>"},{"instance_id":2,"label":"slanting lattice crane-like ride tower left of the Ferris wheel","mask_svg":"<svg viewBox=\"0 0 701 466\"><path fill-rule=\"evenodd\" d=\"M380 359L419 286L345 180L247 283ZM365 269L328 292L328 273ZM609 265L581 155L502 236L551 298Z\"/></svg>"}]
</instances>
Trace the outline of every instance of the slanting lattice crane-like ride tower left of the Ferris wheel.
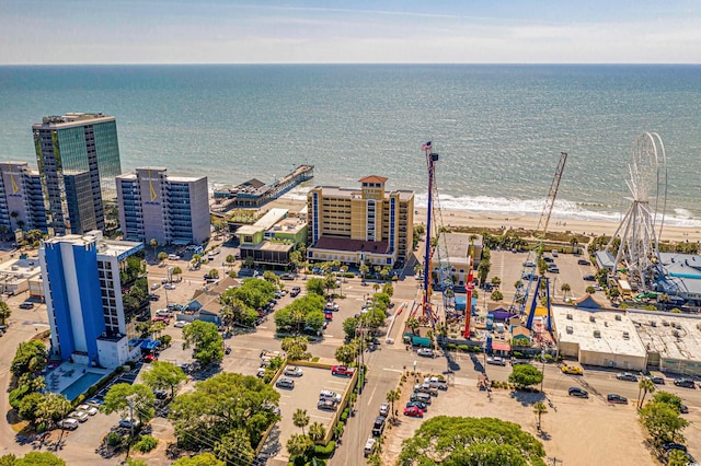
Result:
<instances>
[{"instance_id":1,"label":"slanting lattice crane-like ride tower left of the Ferris wheel","mask_svg":"<svg viewBox=\"0 0 701 466\"><path fill-rule=\"evenodd\" d=\"M528 284L526 287L521 286L521 289L517 290L514 295L514 303L512 304L512 308L516 308L516 304L518 304L519 314L524 315L526 313L526 303L528 302L528 296L530 294L533 281L537 281L537 288L533 293L533 302L531 304L531 308L528 315L528 321L526 324L527 328L531 328L533 315L536 312L536 305L538 300L538 291L540 289L541 278L537 276L538 263L543 254L543 242L545 240L545 233L548 233L548 225L550 223L550 215L552 214L552 209L555 206L555 199L558 198L558 189L560 189L560 180L562 179L562 173L565 170L565 163L567 162L567 153L560 153L560 163L558 163L558 168L555 170L555 176L552 178L552 183L550 184L550 191L548 193L548 197L545 198L545 203L543 205L543 210L540 214L540 220L538 221L538 226L536 228L536 237L540 241L538 246L536 247L536 254L533 257L533 251L531 249L528 253L528 258L524 263L524 270L521 272L521 280L528 279ZM545 288L548 288L548 278L545 280ZM550 318L550 293L547 294L548 298L548 329L551 329L551 318Z\"/></svg>"}]
</instances>

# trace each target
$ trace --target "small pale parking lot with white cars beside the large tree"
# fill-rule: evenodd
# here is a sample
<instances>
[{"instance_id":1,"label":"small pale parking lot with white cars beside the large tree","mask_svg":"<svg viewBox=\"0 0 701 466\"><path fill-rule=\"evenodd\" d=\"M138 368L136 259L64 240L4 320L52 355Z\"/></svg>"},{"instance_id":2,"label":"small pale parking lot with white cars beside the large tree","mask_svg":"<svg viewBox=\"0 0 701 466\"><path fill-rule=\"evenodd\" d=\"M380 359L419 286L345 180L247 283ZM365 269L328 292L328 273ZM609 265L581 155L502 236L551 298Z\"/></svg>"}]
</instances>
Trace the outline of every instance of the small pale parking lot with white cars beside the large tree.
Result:
<instances>
[{"instance_id":1,"label":"small pale parking lot with white cars beside the large tree","mask_svg":"<svg viewBox=\"0 0 701 466\"><path fill-rule=\"evenodd\" d=\"M295 388L275 388L280 394L279 407L283 418L277 424L279 429L277 459L288 459L287 440L294 433L301 433L301 430L295 427L292 422L295 411L297 409L307 410L310 424L321 422L326 428L326 431L329 431L332 429L331 422L334 417L334 411L321 410L317 407L319 393L322 389L329 389L343 396L352 380L350 377L331 375L331 370L329 369L310 366L301 366L301 369L303 371L301 377L289 377L295 381ZM308 431L309 428L304 428L304 432Z\"/></svg>"}]
</instances>

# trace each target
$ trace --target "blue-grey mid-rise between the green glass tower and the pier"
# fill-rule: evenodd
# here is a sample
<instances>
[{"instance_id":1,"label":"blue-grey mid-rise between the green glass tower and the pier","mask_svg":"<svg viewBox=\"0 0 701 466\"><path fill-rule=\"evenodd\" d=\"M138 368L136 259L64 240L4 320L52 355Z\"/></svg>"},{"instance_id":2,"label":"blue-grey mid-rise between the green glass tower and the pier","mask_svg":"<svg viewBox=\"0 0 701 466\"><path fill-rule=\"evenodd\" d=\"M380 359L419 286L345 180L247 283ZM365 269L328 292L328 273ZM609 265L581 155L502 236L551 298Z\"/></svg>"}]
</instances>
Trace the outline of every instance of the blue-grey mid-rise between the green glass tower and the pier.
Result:
<instances>
[{"instance_id":1,"label":"blue-grey mid-rise between the green glass tower and the pier","mask_svg":"<svg viewBox=\"0 0 701 466\"><path fill-rule=\"evenodd\" d=\"M169 176L163 167L141 167L116 177L125 240L199 244L209 237L207 177Z\"/></svg>"}]
</instances>

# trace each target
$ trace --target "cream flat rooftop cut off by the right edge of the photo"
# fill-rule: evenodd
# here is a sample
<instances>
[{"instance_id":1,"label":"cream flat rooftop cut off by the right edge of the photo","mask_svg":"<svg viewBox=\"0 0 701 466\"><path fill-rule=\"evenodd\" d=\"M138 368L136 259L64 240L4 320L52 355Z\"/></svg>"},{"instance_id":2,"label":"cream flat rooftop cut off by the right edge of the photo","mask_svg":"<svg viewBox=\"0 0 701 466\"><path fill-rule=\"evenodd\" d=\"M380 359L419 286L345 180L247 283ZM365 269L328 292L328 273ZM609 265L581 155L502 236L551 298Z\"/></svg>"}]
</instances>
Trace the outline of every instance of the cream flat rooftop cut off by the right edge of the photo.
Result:
<instances>
[{"instance_id":1,"label":"cream flat rooftop cut off by the right edge of the photo","mask_svg":"<svg viewBox=\"0 0 701 466\"><path fill-rule=\"evenodd\" d=\"M701 361L701 316L630 308L628 315L647 352Z\"/></svg>"}]
</instances>

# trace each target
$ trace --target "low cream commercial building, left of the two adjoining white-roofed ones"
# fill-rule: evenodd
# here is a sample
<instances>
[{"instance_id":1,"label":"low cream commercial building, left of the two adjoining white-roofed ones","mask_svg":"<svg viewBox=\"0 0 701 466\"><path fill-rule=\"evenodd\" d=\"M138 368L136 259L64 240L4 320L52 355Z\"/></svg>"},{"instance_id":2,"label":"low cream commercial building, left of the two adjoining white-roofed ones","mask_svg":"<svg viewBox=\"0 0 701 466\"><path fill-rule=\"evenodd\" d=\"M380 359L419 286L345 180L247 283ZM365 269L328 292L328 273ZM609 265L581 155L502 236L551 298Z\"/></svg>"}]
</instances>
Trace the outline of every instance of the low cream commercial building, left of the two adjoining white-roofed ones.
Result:
<instances>
[{"instance_id":1,"label":"low cream commercial building, left of the two adjoining white-roofed ones","mask_svg":"<svg viewBox=\"0 0 701 466\"><path fill-rule=\"evenodd\" d=\"M553 305L560 353L582 364L644 371L647 351L625 311L600 307L590 296L574 306Z\"/></svg>"}]
</instances>

